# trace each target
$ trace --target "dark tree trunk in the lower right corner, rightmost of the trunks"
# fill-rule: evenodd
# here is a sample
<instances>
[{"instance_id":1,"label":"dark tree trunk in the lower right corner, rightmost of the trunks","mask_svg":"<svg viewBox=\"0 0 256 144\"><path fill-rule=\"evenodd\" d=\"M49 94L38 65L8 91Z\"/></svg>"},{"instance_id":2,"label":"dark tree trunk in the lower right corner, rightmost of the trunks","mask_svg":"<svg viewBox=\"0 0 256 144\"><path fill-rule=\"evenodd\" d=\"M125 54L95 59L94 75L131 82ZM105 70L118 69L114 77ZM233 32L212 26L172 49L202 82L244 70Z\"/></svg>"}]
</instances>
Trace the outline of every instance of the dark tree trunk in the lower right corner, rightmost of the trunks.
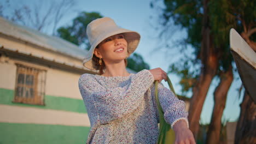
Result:
<instances>
[{"instance_id":1,"label":"dark tree trunk in the lower right corner, rightmost of the trunks","mask_svg":"<svg viewBox=\"0 0 256 144\"><path fill-rule=\"evenodd\" d=\"M240 117L236 125L235 144L256 143L256 104L245 92L240 105Z\"/></svg>"}]
</instances>

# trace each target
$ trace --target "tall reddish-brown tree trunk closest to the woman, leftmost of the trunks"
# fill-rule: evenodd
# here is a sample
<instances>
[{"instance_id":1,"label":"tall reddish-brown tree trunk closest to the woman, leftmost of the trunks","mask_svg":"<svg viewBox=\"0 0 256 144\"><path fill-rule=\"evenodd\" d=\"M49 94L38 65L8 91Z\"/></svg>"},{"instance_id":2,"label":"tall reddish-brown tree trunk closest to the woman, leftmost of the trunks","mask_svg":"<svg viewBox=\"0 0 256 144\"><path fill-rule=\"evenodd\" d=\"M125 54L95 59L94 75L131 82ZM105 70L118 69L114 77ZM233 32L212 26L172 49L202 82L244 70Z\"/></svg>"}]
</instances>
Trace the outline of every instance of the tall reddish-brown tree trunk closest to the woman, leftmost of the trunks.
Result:
<instances>
[{"instance_id":1,"label":"tall reddish-brown tree trunk closest to the woman, leftmost of the trunks","mask_svg":"<svg viewBox=\"0 0 256 144\"><path fill-rule=\"evenodd\" d=\"M209 26L208 16L208 2L209 0L203 1L203 27L202 27L202 42L201 42L201 74L196 86L193 88L193 96L190 100L189 107L189 123L190 130L192 131L195 140L199 130L199 120L202 112L203 103L211 85L213 77L216 75L218 68L218 58L216 50L214 49L211 29Z\"/></svg>"}]
</instances>

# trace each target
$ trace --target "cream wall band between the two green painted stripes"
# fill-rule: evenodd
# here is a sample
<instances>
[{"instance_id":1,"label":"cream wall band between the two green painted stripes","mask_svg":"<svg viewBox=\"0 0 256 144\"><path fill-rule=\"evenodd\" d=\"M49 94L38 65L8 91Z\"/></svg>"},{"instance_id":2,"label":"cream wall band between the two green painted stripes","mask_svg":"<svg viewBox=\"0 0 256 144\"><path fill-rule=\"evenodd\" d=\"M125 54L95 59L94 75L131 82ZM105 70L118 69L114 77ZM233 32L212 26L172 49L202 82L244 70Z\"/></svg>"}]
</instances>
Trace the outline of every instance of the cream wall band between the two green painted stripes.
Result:
<instances>
[{"instance_id":1,"label":"cream wall band between the two green painted stripes","mask_svg":"<svg viewBox=\"0 0 256 144\"><path fill-rule=\"evenodd\" d=\"M0 104L0 123L58 124L90 127L87 113Z\"/></svg>"}]
</instances>

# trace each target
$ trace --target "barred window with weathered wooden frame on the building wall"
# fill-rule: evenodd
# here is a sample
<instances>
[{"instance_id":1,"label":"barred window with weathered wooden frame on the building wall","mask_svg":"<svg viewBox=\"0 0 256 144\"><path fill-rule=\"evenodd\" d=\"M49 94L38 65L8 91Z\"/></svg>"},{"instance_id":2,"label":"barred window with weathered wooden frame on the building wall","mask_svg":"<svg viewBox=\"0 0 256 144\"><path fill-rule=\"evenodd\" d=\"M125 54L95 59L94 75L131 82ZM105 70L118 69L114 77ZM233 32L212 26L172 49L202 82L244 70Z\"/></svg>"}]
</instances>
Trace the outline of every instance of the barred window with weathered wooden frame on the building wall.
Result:
<instances>
[{"instance_id":1,"label":"barred window with weathered wooden frame on the building wall","mask_svg":"<svg viewBox=\"0 0 256 144\"><path fill-rule=\"evenodd\" d=\"M17 65L15 103L44 105L46 71Z\"/></svg>"}]
</instances>

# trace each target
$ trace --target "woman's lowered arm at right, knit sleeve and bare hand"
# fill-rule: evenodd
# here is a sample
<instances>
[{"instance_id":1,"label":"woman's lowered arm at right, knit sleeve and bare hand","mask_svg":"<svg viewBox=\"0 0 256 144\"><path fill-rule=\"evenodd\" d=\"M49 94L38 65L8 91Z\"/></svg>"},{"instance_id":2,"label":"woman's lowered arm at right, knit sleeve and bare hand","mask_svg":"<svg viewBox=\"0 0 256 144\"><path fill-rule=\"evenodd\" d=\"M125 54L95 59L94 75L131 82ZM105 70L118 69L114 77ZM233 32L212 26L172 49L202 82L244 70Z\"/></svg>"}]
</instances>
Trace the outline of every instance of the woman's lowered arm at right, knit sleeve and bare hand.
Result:
<instances>
[{"instance_id":1,"label":"woman's lowered arm at right, knit sleeve and bare hand","mask_svg":"<svg viewBox=\"0 0 256 144\"><path fill-rule=\"evenodd\" d=\"M162 83L158 85L159 102L164 111L165 121L171 124L175 132L175 144L195 143L193 134L189 130L188 112L185 111L185 103L175 97L173 92L165 88Z\"/></svg>"}]
</instances>

